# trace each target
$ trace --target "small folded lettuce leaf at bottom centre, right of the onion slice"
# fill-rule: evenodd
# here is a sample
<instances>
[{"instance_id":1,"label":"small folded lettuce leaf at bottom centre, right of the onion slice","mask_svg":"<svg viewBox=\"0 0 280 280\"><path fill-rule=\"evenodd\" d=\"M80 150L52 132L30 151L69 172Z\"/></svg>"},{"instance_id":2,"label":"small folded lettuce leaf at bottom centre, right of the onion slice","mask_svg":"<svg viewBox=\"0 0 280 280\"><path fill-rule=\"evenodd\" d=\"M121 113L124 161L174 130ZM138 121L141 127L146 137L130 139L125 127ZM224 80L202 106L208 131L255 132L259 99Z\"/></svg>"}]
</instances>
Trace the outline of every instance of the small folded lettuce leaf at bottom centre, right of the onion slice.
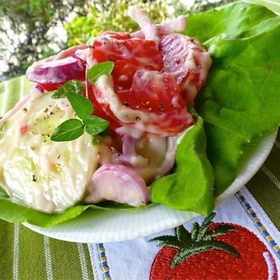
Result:
<instances>
[{"instance_id":1,"label":"small folded lettuce leaf at bottom centre, right of the onion slice","mask_svg":"<svg viewBox=\"0 0 280 280\"><path fill-rule=\"evenodd\" d=\"M176 169L151 186L151 201L209 215L214 209L214 174L206 154L203 120L198 118L177 146Z\"/></svg>"}]
</instances>

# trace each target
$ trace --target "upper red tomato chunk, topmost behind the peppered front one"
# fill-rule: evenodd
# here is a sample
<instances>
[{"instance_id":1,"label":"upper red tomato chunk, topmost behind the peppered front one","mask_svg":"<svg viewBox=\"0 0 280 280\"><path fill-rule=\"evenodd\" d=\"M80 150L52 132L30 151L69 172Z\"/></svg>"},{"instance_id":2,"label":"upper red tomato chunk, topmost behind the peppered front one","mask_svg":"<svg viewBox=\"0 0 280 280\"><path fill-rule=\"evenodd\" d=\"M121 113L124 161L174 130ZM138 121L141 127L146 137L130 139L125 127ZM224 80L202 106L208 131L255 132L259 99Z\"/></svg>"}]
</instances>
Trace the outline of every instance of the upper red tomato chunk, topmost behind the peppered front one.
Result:
<instances>
[{"instance_id":1,"label":"upper red tomato chunk, topmost behind the peppered front one","mask_svg":"<svg viewBox=\"0 0 280 280\"><path fill-rule=\"evenodd\" d=\"M158 46L153 41L130 38L123 32L105 32L93 42L92 57L97 62L113 61L116 90L129 90L138 69L160 71L163 68Z\"/></svg>"}]
</instances>

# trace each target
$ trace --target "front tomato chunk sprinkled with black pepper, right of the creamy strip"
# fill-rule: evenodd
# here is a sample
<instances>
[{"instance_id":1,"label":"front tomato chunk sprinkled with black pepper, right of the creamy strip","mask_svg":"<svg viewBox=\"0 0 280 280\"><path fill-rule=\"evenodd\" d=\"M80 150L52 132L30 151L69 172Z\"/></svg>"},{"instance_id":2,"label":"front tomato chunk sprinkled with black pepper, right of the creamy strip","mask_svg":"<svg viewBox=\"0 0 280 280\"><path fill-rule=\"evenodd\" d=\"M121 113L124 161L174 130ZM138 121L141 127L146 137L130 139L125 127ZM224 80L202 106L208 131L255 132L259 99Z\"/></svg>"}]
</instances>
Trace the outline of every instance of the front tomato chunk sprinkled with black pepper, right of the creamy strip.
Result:
<instances>
[{"instance_id":1,"label":"front tomato chunk sprinkled with black pepper, right of the creamy strip","mask_svg":"<svg viewBox=\"0 0 280 280\"><path fill-rule=\"evenodd\" d=\"M138 70L130 90L117 91L120 102L146 113L148 123L138 125L146 132L171 136L193 124L174 76L159 71ZM139 123L140 120L137 120Z\"/></svg>"}]
</instances>

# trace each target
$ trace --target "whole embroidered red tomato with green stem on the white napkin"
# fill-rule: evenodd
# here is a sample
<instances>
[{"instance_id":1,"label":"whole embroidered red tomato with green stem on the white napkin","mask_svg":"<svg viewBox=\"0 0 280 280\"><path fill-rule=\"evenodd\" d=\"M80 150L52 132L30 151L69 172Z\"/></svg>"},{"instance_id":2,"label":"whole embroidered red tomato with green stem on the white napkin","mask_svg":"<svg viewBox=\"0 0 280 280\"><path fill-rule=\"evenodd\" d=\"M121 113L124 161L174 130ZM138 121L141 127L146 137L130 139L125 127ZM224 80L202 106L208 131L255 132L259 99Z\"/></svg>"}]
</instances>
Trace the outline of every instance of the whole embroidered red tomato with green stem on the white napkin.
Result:
<instances>
[{"instance_id":1,"label":"whole embroidered red tomato with green stem on the white napkin","mask_svg":"<svg viewBox=\"0 0 280 280\"><path fill-rule=\"evenodd\" d=\"M265 244L240 225L214 223L212 214L192 232L156 237L163 248L155 257L151 280L277 279L275 261Z\"/></svg>"}]
</instances>

